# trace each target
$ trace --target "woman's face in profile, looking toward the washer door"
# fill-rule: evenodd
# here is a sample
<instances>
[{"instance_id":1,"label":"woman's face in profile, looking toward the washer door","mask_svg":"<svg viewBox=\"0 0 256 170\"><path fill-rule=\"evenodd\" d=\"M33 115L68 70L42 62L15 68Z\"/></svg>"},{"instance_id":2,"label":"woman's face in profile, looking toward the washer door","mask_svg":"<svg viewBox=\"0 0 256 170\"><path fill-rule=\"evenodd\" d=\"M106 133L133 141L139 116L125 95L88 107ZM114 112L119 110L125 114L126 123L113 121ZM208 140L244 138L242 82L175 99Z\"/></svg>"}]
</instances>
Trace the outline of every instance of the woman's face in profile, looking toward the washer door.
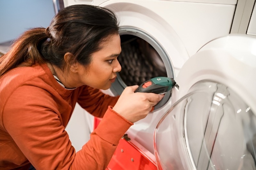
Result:
<instances>
[{"instance_id":1,"label":"woman's face in profile, looking toward the washer door","mask_svg":"<svg viewBox=\"0 0 256 170\"><path fill-rule=\"evenodd\" d=\"M117 56L121 53L119 34L110 35L101 50L92 54L88 67L80 65L78 72L80 82L97 89L106 90L116 79L116 72L121 70Z\"/></svg>"}]
</instances>

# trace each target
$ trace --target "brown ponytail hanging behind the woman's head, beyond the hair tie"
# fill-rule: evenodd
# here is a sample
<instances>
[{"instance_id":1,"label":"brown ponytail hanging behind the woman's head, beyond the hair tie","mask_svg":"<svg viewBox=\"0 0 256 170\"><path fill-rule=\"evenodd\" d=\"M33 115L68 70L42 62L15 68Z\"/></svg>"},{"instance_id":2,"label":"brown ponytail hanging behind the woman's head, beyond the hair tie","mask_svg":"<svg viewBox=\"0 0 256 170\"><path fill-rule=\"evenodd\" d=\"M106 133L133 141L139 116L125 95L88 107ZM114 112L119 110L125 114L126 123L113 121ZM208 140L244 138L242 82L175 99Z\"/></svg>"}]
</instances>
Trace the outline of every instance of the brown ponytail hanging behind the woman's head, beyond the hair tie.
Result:
<instances>
[{"instance_id":1,"label":"brown ponytail hanging behind the woman's head, beyond the hair tie","mask_svg":"<svg viewBox=\"0 0 256 170\"><path fill-rule=\"evenodd\" d=\"M15 67L45 63L40 51L41 43L46 39L45 28L32 28L24 32L0 57L0 77Z\"/></svg>"}]
</instances>

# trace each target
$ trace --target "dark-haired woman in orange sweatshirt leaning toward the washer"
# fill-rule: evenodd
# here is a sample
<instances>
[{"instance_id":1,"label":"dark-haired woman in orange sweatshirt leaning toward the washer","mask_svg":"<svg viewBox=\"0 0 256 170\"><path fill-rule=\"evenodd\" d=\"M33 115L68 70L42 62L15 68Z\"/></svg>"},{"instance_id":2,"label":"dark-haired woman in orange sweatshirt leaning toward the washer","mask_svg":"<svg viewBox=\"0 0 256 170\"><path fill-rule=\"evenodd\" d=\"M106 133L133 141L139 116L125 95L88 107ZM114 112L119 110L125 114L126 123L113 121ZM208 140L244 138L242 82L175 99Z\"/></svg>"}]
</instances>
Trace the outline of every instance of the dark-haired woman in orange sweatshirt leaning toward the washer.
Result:
<instances>
[{"instance_id":1,"label":"dark-haired woman in orange sweatshirt leaning toward the washer","mask_svg":"<svg viewBox=\"0 0 256 170\"><path fill-rule=\"evenodd\" d=\"M105 169L119 139L162 99L108 89L121 70L116 16L90 5L64 8L48 28L23 33L0 57L0 169ZM65 127L78 104L103 117L76 152ZM114 106L114 107L112 107Z\"/></svg>"}]
</instances>

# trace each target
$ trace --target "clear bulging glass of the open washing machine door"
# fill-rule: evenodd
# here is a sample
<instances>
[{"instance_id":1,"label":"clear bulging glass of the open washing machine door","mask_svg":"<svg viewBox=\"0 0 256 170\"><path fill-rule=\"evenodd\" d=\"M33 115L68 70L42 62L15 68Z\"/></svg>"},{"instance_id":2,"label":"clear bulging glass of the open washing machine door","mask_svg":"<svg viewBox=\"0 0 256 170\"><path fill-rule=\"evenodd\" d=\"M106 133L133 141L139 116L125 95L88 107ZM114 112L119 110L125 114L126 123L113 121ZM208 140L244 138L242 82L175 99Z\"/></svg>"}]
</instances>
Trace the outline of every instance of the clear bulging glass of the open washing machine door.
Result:
<instances>
[{"instance_id":1,"label":"clear bulging glass of the open washing machine door","mask_svg":"<svg viewBox=\"0 0 256 170\"><path fill-rule=\"evenodd\" d=\"M196 83L154 135L159 169L256 169L256 115L219 83Z\"/></svg>"}]
</instances>

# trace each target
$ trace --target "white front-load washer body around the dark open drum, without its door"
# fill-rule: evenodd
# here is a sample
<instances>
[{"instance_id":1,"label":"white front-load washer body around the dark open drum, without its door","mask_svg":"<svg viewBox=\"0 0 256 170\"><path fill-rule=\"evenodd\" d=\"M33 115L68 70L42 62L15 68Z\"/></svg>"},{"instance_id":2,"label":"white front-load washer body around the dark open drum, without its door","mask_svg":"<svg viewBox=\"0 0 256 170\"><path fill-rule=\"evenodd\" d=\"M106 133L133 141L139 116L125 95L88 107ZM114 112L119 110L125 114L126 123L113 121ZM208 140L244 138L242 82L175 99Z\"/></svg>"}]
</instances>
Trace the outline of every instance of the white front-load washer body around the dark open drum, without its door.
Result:
<instances>
[{"instance_id":1,"label":"white front-load washer body around the dark open drum, without its door","mask_svg":"<svg viewBox=\"0 0 256 170\"><path fill-rule=\"evenodd\" d=\"M64 0L65 6L106 7L119 20L122 53L118 60L122 70L111 88L104 91L109 95L119 95L126 86L140 85L153 77L175 79L182 65L199 48L230 32L236 3L236 0ZM127 131L152 154L154 129L171 106L170 94L165 95L164 101ZM92 124L94 118L86 116L84 124ZM77 123L70 121L68 127L72 124ZM93 126L89 129L91 132Z\"/></svg>"}]
</instances>

